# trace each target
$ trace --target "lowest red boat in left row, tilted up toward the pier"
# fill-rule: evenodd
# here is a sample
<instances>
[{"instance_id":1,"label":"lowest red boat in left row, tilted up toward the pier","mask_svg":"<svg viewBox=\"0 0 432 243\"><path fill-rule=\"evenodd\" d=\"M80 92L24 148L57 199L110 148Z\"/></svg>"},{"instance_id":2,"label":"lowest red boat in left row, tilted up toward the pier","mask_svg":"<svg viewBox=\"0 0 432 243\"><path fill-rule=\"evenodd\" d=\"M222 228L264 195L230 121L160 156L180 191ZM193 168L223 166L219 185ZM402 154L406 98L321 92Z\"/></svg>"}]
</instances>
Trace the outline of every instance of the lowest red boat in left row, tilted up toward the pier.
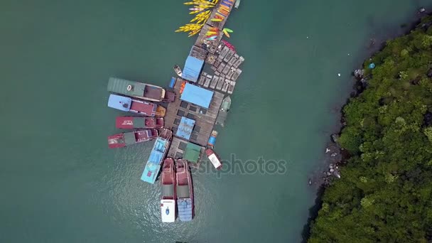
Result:
<instances>
[{"instance_id":1,"label":"lowest red boat in left row, tilted up toward the pier","mask_svg":"<svg viewBox=\"0 0 432 243\"><path fill-rule=\"evenodd\" d=\"M115 134L108 137L109 148L123 148L131 144L138 144L144 141L155 139L158 136L158 130L146 129L138 131L129 131L123 134Z\"/></svg>"}]
</instances>

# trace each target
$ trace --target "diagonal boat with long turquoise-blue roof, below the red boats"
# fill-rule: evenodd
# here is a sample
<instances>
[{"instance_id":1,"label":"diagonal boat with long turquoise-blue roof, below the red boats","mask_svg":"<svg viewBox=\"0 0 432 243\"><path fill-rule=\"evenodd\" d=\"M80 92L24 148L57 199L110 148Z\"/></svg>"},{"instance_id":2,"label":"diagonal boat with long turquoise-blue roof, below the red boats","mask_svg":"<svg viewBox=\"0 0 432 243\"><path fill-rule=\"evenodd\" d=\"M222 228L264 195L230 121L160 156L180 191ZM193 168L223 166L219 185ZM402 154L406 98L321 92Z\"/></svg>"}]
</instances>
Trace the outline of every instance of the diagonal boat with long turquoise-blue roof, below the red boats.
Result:
<instances>
[{"instance_id":1,"label":"diagonal boat with long turquoise-blue roof, below the red boats","mask_svg":"<svg viewBox=\"0 0 432 243\"><path fill-rule=\"evenodd\" d=\"M173 132L169 129L162 129L161 134L156 139L156 142L151 149L150 156L141 175L141 180L154 184L158 178L159 171L161 171L161 163L165 158L168 148L170 146L171 137Z\"/></svg>"}]
</instances>

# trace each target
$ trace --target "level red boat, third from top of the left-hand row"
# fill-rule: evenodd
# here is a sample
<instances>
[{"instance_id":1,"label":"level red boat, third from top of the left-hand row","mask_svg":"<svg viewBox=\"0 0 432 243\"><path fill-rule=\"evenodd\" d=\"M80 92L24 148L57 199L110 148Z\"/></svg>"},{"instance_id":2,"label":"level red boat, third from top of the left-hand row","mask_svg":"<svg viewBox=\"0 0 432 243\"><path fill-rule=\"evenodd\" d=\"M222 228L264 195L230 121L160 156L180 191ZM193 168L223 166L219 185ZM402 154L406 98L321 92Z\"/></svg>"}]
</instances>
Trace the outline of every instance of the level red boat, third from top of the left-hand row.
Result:
<instances>
[{"instance_id":1,"label":"level red boat, third from top of the left-hand row","mask_svg":"<svg viewBox=\"0 0 432 243\"><path fill-rule=\"evenodd\" d=\"M119 129L160 129L163 127L163 118L117 117L116 127Z\"/></svg>"}]
</instances>

